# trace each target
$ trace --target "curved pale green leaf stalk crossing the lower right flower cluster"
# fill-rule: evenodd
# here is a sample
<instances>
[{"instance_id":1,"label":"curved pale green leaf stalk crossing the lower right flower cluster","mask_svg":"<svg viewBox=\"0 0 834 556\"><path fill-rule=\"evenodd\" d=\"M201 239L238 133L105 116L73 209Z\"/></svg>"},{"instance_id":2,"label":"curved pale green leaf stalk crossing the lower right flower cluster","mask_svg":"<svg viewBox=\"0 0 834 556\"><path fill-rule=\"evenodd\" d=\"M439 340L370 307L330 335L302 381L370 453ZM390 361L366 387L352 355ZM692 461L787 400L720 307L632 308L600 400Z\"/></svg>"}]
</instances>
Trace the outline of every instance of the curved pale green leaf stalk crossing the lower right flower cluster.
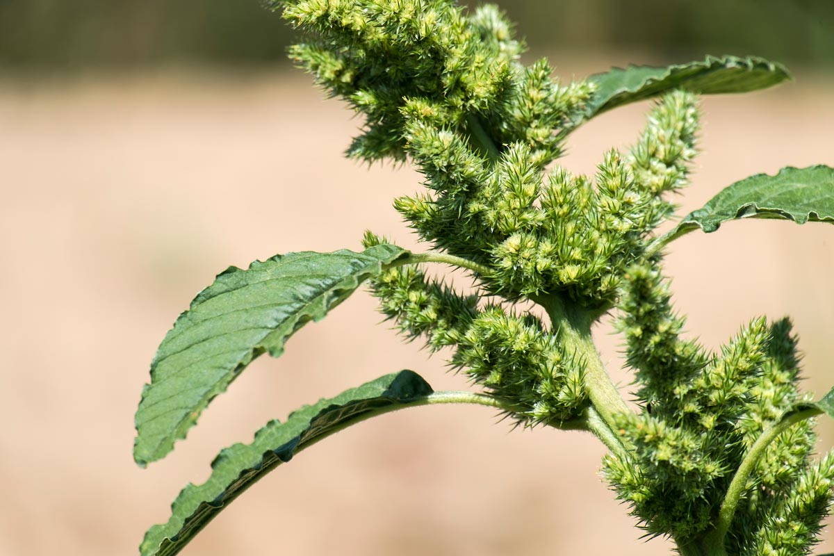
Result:
<instances>
[{"instance_id":1,"label":"curved pale green leaf stalk crossing the lower right flower cluster","mask_svg":"<svg viewBox=\"0 0 834 556\"><path fill-rule=\"evenodd\" d=\"M721 503L721 509L718 511L718 519L716 521L716 528L706 537L706 547L711 556L723 556L726 554L724 549L724 538L727 531L730 530L732 519L736 515L736 507L742 494L744 494L747 486L747 479L750 478L751 473L756 468L756 463L764 455L766 448L773 440L784 433L788 428L791 428L796 423L800 423L807 418L814 417L822 413L819 408L806 408L794 413L789 413L781 418L778 423L774 423L770 428L761 433L761 436L756 439L750 450L746 453L744 459L741 461L736 474L733 476L730 486L727 488L727 493L724 496L724 502Z\"/></svg>"}]
</instances>

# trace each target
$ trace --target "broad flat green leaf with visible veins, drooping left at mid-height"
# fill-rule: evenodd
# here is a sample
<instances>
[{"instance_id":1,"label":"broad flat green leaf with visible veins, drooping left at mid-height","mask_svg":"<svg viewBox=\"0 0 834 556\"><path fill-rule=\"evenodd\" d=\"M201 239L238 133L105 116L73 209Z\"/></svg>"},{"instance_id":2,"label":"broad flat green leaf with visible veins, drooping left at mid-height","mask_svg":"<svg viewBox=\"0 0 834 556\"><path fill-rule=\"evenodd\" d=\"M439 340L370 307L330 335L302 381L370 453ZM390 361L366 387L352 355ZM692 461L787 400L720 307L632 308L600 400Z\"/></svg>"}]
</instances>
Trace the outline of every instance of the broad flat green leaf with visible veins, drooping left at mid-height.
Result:
<instances>
[{"instance_id":1,"label":"broad flat green leaf with visible veins, drooping left at mid-height","mask_svg":"<svg viewBox=\"0 0 834 556\"><path fill-rule=\"evenodd\" d=\"M136 462L163 458L254 358L278 357L296 330L324 318L406 253L393 245L288 253L219 274L179 316L151 363L151 383L136 412Z\"/></svg>"}]
</instances>

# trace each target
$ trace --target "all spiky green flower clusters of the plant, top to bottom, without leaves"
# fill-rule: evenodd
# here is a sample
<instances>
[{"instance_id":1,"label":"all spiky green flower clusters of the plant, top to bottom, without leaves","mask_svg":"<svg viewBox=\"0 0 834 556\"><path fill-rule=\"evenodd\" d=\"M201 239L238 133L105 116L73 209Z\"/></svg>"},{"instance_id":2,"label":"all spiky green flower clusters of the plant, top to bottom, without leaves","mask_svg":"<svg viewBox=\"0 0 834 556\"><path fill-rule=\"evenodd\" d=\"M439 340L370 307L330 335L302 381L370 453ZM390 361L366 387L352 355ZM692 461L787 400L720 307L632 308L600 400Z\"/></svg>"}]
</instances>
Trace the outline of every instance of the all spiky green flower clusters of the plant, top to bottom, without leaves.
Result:
<instances>
[{"instance_id":1,"label":"all spiky green flower clusters of the plant, top to bottom, without leaves","mask_svg":"<svg viewBox=\"0 0 834 556\"><path fill-rule=\"evenodd\" d=\"M666 94L629 153L610 151L595 176L577 176L548 165L585 118L594 86L560 83L545 61L522 65L522 47L496 8L276 4L308 33L294 60L364 114L349 156L420 168L425 193L398 198L395 208L422 240L475 274L479 292L464 296L420 268L389 268L372 282L383 312L409 338L455 348L450 363L522 423L592 429L600 418L609 434L595 432L612 448L605 473L620 498L649 533L675 538L681 550L699 546L756 438L799 394L790 323L755 320L720 354L706 353L681 339L660 255L648 249L673 209L665 196L686 185L695 155L694 95ZM368 234L364 243L381 241ZM503 300L483 299L490 296ZM549 325L506 308L525 298L547 310ZM614 308L641 413L605 407L622 400L610 381L614 395L600 394L600 373L607 377L589 362L592 343L583 343L590 323ZM810 463L813 439L811 426L798 423L766 449L726 553L806 553L834 478L834 458Z\"/></svg>"}]
</instances>

